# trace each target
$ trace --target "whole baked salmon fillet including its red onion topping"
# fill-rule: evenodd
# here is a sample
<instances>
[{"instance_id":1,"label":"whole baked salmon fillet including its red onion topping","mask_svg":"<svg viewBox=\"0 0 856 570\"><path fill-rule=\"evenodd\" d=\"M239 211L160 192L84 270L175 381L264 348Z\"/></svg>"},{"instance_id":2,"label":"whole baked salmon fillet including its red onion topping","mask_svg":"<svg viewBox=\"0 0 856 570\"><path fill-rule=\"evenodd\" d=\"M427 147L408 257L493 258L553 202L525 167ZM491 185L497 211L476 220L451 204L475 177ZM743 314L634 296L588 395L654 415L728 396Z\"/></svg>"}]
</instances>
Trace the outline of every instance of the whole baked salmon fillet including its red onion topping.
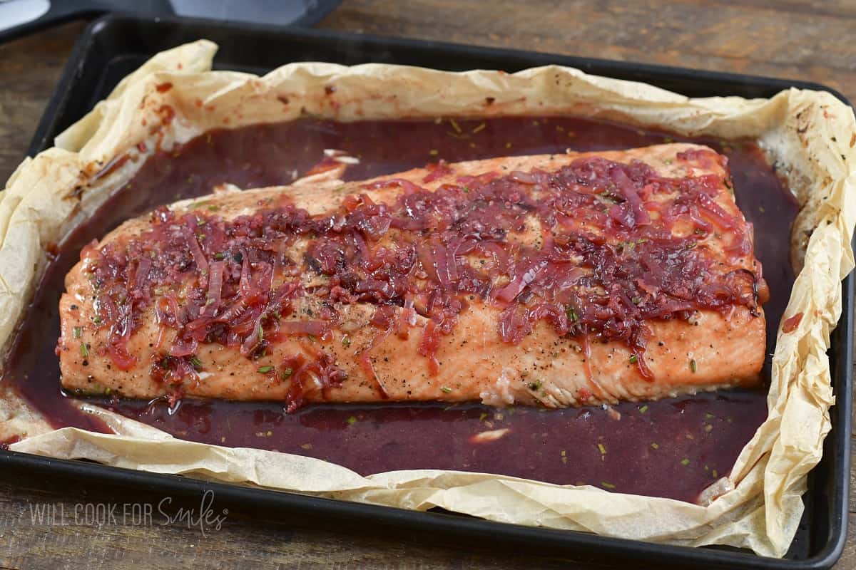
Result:
<instances>
[{"instance_id":1,"label":"whole baked salmon fillet including its red onion topping","mask_svg":"<svg viewBox=\"0 0 856 570\"><path fill-rule=\"evenodd\" d=\"M764 362L752 226L695 144L214 194L128 220L65 285L75 393L556 408Z\"/></svg>"}]
</instances>

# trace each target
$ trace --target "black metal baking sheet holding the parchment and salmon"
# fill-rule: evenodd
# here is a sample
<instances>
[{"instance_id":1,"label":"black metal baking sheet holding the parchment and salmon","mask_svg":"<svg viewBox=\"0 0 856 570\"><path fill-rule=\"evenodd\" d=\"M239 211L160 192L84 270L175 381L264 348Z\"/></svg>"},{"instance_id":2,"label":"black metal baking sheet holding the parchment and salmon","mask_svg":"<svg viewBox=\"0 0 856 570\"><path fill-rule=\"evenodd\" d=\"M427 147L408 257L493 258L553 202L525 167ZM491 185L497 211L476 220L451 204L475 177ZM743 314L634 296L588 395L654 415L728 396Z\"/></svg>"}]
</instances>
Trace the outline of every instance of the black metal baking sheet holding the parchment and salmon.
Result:
<instances>
[{"instance_id":1,"label":"black metal baking sheet holding the parchment and salmon","mask_svg":"<svg viewBox=\"0 0 856 570\"><path fill-rule=\"evenodd\" d=\"M556 56L534 52L496 50L402 38L377 38L300 28L237 25L186 19L145 20L107 16L92 23L80 37L62 79L33 137L29 153L52 145L53 138L106 97L122 77L158 51L177 44L208 38L220 46L215 68L265 73L288 62L324 61L342 64L399 63L461 71L473 68L523 68L555 63L619 79L657 85L687 96L737 95L771 97L791 86L830 91L823 85L728 73L665 68L628 62ZM831 410L832 431L824 443L823 461L809 476L805 514L794 544L785 559L763 558L735 549L691 549L601 538L581 532L506 525L445 513L417 513L398 508L304 497L238 485L213 484L172 475L158 475L105 467L85 461L59 461L33 455L0 452L0 470L10 477L26 473L31 483L56 485L57 478L100 481L129 494L158 490L175 497L199 496L215 491L217 501L240 505L247 512L277 520L294 516L324 520L325 525L366 526L425 533L433 539L454 538L455 543L489 544L492 549L527 549L532 555L567 556L603 563L645 561L657 567L824 568L841 555L847 534L849 485L851 374L853 370L853 281L843 285L844 300L839 326L829 352L837 403ZM17 474L17 475L16 475Z\"/></svg>"}]
</instances>

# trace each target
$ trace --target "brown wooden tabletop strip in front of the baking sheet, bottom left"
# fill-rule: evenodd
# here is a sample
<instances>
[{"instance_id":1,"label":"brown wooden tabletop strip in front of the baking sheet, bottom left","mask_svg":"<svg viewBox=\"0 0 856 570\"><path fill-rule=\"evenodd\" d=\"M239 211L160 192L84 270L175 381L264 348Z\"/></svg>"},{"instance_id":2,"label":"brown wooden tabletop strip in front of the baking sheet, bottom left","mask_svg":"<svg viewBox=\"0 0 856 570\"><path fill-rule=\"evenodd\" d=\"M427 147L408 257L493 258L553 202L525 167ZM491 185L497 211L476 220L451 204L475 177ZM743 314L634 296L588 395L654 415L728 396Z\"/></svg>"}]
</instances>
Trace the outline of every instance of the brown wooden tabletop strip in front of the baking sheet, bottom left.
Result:
<instances>
[{"instance_id":1,"label":"brown wooden tabletop strip in front of the baking sheet, bottom left","mask_svg":"<svg viewBox=\"0 0 856 570\"><path fill-rule=\"evenodd\" d=\"M112 568L473 568L498 570L528 564L543 568L567 567L567 561L525 555L496 554L468 548L466 543L441 546L424 544L418 537L379 533L336 532L330 526L306 526L248 517L229 511L218 531L187 526L186 520L168 516L196 502L159 505L163 496L130 498L81 486L57 493L28 490L21 483L0 481L0 567L55 570L80 567ZM152 518L123 517L123 503L152 505ZM119 503L113 511L117 524L106 514L87 515L87 505ZM235 506L233 505L233 510ZM45 509L47 510L40 510ZM214 497L217 514L223 506ZM105 511L106 512L106 511ZM42 515L40 516L39 513ZM130 511L128 510L128 513Z\"/></svg>"}]
</instances>

